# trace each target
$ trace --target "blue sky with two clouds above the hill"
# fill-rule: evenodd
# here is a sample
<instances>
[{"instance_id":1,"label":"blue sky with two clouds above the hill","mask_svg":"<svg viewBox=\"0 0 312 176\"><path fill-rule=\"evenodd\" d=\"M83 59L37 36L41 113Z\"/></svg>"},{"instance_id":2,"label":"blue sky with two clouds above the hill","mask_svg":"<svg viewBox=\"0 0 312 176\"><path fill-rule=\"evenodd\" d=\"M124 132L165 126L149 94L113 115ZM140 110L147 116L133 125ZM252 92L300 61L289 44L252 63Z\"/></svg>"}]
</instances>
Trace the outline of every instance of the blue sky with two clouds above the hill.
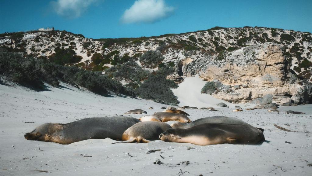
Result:
<instances>
[{"instance_id":1,"label":"blue sky with two clouds above the hill","mask_svg":"<svg viewBox=\"0 0 312 176\"><path fill-rule=\"evenodd\" d=\"M312 32L312 0L1 0L0 33L54 26L121 38L263 26Z\"/></svg>"}]
</instances>

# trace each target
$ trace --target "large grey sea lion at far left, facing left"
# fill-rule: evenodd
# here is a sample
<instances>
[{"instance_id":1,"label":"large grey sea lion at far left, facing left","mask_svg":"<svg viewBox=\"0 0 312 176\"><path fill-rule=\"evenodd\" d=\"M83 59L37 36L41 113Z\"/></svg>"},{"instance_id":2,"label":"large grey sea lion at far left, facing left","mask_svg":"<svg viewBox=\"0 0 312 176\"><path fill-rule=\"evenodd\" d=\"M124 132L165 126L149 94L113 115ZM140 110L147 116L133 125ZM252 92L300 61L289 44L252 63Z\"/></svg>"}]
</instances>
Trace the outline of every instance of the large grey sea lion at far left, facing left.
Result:
<instances>
[{"instance_id":1,"label":"large grey sea lion at far left, facing left","mask_svg":"<svg viewBox=\"0 0 312 176\"><path fill-rule=\"evenodd\" d=\"M45 123L26 133L24 137L27 140L60 144L107 137L120 140L124 131L138 122L140 121L133 117L114 116L85 118L66 124Z\"/></svg>"}]
</instances>

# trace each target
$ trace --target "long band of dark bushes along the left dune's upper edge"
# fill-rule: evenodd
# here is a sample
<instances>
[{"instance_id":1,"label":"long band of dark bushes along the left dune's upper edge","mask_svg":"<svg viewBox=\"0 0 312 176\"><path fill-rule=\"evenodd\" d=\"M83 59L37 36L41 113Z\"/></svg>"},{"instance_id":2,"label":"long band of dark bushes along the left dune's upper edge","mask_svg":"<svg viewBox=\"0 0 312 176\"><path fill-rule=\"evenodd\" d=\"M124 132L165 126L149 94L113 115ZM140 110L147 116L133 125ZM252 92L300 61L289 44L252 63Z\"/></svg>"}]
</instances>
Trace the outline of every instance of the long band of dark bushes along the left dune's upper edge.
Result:
<instances>
[{"instance_id":1,"label":"long band of dark bushes along the left dune's upper edge","mask_svg":"<svg viewBox=\"0 0 312 176\"><path fill-rule=\"evenodd\" d=\"M42 88L43 82L58 86L62 80L72 85L85 87L95 93L107 90L125 95L134 95L121 83L103 75L102 72L91 72L77 67L68 67L48 63L46 58L24 58L17 53L7 52L0 48L0 75L21 85Z\"/></svg>"}]
</instances>

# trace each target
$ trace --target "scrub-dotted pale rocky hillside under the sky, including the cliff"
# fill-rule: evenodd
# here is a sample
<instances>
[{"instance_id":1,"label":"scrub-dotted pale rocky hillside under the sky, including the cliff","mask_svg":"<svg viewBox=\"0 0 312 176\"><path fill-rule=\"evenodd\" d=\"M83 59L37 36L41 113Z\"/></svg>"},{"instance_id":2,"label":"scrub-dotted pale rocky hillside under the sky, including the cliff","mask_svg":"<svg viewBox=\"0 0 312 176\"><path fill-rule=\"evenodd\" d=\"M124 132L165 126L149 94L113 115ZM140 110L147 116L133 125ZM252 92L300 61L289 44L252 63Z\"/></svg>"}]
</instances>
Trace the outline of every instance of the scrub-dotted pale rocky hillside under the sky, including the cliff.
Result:
<instances>
[{"instance_id":1,"label":"scrub-dotted pale rocky hillside under the sky, including the cliff","mask_svg":"<svg viewBox=\"0 0 312 176\"><path fill-rule=\"evenodd\" d=\"M132 89L138 89L147 79L144 71L172 67L174 72L167 78L180 83L185 77L199 75L202 80L213 81L216 91L212 96L225 101L245 103L271 94L276 103L311 103L311 33L215 27L124 39L87 39L66 31L1 36L1 47L36 58L47 57L56 64L105 71L105 75ZM135 68L131 74L139 78L124 76L129 67ZM123 69L126 74L120 71ZM116 71L121 75L114 74Z\"/></svg>"}]
</instances>

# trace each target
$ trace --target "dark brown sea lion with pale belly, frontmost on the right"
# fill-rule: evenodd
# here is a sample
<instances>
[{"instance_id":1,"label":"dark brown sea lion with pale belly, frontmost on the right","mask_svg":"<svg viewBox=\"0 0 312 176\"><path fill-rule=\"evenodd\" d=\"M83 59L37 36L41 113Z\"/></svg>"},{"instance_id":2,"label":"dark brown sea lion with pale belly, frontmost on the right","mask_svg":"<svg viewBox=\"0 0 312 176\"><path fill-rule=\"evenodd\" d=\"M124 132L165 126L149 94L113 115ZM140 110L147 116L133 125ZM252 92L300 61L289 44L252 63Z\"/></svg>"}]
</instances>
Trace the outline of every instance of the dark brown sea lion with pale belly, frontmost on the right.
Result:
<instances>
[{"instance_id":1,"label":"dark brown sea lion with pale belly, frontmost on the right","mask_svg":"<svg viewBox=\"0 0 312 176\"><path fill-rule=\"evenodd\" d=\"M191 128L169 128L159 135L165 142L195 145L258 144L265 141L263 132L251 125L205 123Z\"/></svg>"}]
</instances>

